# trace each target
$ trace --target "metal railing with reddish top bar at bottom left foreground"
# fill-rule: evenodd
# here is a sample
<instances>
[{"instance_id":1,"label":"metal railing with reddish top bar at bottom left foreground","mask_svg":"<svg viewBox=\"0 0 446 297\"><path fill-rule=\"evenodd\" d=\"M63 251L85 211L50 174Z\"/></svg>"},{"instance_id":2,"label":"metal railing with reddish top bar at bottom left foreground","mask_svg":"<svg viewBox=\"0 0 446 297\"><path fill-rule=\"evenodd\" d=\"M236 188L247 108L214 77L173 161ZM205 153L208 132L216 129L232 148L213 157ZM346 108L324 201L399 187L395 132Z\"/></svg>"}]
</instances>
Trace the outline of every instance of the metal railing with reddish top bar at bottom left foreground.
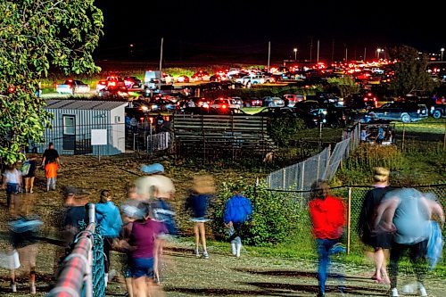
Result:
<instances>
[{"instance_id":1,"label":"metal railing with reddish top bar at bottom left foreground","mask_svg":"<svg viewBox=\"0 0 446 297\"><path fill-rule=\"evenodd\" d=\"M78 232L70 254L63 260L57 283L48 296L105 296L103 238L96 233L95 204L88 203L87 227Z\"/></svg>"}]
</instances>

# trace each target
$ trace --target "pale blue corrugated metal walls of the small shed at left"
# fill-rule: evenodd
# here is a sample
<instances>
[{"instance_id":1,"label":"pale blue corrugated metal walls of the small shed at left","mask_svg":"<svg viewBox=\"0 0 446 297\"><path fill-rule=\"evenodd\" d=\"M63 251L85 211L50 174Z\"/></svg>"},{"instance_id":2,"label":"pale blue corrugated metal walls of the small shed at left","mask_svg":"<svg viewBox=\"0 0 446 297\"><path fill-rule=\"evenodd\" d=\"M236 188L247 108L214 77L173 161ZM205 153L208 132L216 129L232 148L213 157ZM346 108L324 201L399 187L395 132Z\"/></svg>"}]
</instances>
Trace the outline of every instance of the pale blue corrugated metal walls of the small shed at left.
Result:
<instances>
[{"instance_id":1,"label":"pale blue corrugated metal walls of the small shed at left","mask_svg":"<svg viewBox=\"0 0 446 297\"><path fill-rule=\"evenodd\" d=\"M46 109L54 114L53 128L44 132L44 144L37 144L37 153L43 153L48 143L53 142L54 148L60 154L101 154L113 155L125 152L125 123L124 107L111 111L106 110L77 110L77 109ZM119 114L119 115L118 115ZM82 150L63 149L63 116L74 116L76 126L76 143L90 146L92 129L107 129L107 145L93 146L93 153L82 153ZM119 119L115 119L115 117ZM115 122L116 120L119 120ZM121 145L122 143L122 145Z\"/></svg>"}]
</instances>

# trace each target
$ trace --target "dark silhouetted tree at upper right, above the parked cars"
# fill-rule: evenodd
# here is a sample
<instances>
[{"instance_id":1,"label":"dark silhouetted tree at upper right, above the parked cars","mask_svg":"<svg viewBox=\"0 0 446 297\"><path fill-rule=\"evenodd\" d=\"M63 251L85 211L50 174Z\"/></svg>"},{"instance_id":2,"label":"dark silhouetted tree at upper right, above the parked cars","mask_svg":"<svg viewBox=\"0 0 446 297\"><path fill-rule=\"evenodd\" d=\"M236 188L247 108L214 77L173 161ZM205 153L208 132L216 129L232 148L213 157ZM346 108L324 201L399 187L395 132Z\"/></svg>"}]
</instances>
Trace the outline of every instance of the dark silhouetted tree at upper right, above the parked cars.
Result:
<instances>
[{"instance_id":1,"label":"dark silhouetted tree at upper right, above the parked cars","mask_svg":"<svg viewBox=\"0 0 446 297\"><path fill-rule=\"evenodd\" d=\"M416 48L408 45L393 47L389 53L392 59L398 61L394 65L395 77L389 86L396 95L434 89L434 80L426 72L427 54L418 54Z\"/></svg>"}]
</instances>

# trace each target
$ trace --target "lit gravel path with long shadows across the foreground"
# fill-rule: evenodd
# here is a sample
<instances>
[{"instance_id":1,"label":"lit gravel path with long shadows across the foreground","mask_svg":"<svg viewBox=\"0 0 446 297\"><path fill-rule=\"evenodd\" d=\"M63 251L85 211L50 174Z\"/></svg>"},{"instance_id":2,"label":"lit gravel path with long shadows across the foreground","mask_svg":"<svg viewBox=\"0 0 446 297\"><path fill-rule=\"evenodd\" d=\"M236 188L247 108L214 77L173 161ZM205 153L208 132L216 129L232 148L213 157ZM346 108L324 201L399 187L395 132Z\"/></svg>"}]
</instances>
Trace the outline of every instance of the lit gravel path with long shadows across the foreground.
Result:
<instances>
[{"instance_id":1,"label":"lit gravel path with long shadows across the foreground","mask_svg":"<svg viewBox=\"0 0 446 297\"><path fill-rule=\"evenodd\" d=\"M229 251L209 250L209 260L196 259L192 244L176 243L165 250L161 283L167 296L316 296L318 293L314 262L252 257L249 248L240 259L230 256ZM342 269L346 272L344 296L388 296L387 285L377 285L369 278L371 268ZM405 285L412 279L401 276L399 280ZM343 296L337 290L338 284L337 280L328 281L327 296ZM445 295L444 280L428 279L425 285L429 296ZM119 283L112 283L108 294L120 295L122 288Z\"/></svg>"}]
</instances>

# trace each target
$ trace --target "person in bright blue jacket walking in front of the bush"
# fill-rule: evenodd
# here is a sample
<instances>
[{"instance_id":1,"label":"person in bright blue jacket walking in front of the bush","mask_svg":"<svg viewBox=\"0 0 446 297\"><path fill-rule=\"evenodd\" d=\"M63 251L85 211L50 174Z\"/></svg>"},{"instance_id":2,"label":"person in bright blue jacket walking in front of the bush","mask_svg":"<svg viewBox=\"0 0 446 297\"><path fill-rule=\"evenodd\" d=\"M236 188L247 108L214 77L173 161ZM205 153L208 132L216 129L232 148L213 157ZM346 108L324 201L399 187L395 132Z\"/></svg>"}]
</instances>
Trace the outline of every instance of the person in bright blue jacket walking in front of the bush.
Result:
<instances>
[{"instance_id":1,"label":"person in bright blue jacket walking in front of the bush","mask_svg":"<svg viewBox=\"0 0 446 297\"><path fill-rule=\"evenodd\" d=\"M238 191L235 191L234 196L226 202L223 221L225 226L229 228L229 242L231 243L232 254L237 258L240 257L240 250L242 249L241 231L244 223L251 218L252 212L251 200Z\"/></svg>"}]
</instances>

